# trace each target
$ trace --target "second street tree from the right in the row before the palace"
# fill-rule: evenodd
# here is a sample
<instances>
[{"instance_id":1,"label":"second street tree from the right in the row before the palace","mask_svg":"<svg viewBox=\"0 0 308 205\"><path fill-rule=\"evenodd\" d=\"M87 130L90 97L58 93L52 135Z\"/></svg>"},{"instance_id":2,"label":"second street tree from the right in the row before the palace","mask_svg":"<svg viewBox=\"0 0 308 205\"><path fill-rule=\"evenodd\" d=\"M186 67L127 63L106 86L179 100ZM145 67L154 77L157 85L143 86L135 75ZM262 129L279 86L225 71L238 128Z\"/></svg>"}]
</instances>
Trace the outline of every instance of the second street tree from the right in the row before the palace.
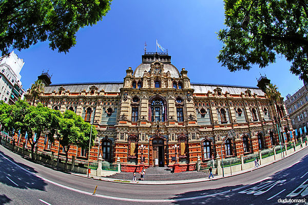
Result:
<instances>
[{"instance_id":1,"label":"second street tree from the right in the row before the palace","mask_svg":"<svg viewBox=\"0 0 308 205\"><path fill-rule=\"evenodd\" d=\"M60 111L51 110L39 103L31 106L29 113L24 118L27 126L28 141L31 145L32 159L34 160L34 147L42 135L54 136L60 127L62 114Z\"/></svg>"}]
</instances>

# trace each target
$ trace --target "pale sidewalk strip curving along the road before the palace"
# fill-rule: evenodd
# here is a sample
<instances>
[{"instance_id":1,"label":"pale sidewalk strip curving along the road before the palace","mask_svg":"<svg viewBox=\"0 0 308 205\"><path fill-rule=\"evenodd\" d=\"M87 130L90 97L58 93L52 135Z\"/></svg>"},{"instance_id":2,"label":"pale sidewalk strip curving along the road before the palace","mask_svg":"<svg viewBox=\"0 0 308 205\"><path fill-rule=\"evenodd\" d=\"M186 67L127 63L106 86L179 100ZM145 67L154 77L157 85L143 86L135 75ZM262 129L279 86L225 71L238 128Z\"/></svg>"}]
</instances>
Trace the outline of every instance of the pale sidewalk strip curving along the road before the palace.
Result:
<instances>
[{"instance_id":1,"label":"pale sidewalk strip curving along the road before the palace","mask_svg":"<svg viewBox=\"0 0 308 205\"><path fill-rule=\"evenodd\" d=\"M308 146L307 146L308 147ZM289 156L292 156L293 154L307 148L307 147L303 147L300 148L299 150L296 150L295 152L288 154L287 156L285 156L284 158L287 158ZM283 159L284 159L283 158ZM214 180L217 179L221 179L221 178L227 178L227 177L232 177L232 176L236 176L239 174L244 174L247 172L252 172L254 170L257 169L261 169L263 167L266 167L268 165L272 165L273 163L276 163L277 161L283 160L283 159L276 159L274 161L268 162L268 163L264 163L262 165L259 166L259 168L251 168L251 169L246 169L246 170L242 170L239 172L234 172L232 173L232 175L230 174L225 174L224 177L222 177L221 175L214 175ZM127 176L124 177L124 179L112 179L112 178L107 178L107 177L98 177L98 176L87 176L86 174L79 174L79 173L71 173L75 176L80 176L80 177L85 177L85 178L92 178L95 180L101 180L101 181L109 181L109 182L115 182L115 183L129 183L129 184L138 184L138 185L179 185L179 184L183 184L183 183L197 183L197 182L203 182L203 181L211 181L213 179L208 179L208 177L206 178L198 178L198 179L190 179L190 180L177 180L177 181L147 181L146 180L146 175L145 175L145 180L144 181L132 181L132 173L127 173Z\"/></svg>"}]
</instances>

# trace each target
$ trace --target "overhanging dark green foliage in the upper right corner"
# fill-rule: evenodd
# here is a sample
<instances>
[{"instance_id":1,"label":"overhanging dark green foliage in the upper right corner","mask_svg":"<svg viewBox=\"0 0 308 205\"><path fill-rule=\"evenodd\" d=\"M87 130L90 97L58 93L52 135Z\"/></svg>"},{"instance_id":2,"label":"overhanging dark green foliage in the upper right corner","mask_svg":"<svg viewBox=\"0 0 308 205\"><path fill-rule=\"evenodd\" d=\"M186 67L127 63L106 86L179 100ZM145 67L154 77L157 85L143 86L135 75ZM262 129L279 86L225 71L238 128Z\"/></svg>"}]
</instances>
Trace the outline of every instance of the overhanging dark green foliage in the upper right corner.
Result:
<instances>
[{"instance_id":1,"label":"overhanging dark green foliage in the upper right corner","mask_svg":"<svg viewBox=\"0 0 308 205\"><path fill-rule=\"evenodd\" d=\"M290 71L308 80L308 8L304 0L224 0L224 46L219 62L228 70L264 68L282 55Z\"/></svg>"}]
</instances>

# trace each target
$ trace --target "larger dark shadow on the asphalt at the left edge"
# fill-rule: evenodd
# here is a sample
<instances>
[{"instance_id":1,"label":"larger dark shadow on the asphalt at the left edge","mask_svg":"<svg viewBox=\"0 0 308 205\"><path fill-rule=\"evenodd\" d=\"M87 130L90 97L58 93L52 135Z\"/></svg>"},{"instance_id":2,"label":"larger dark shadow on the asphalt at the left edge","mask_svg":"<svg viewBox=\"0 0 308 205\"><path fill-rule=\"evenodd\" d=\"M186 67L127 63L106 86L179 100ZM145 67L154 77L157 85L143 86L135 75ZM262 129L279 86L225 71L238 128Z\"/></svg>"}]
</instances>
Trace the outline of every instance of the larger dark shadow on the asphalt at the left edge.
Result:
<instances>
[{"instance_id":1,"label":"larger dark shadow on the asphalt at the left edge","mask_svg":"<svg viewBox=\"0 0 308 205\"><path fill-rule=\"evenodd\" d=\"M0 182L11 187L19 189L36 189L45 191L47 183L31 173L37 173L33 168L24 165L23 163L16 162L13 158L0 151ZM17 167L14 163L4 158L5 156L10 161L18 166L28 170L31 173ZM15 185L16 183L16 185Z\"/></svg>"}]
</instances>

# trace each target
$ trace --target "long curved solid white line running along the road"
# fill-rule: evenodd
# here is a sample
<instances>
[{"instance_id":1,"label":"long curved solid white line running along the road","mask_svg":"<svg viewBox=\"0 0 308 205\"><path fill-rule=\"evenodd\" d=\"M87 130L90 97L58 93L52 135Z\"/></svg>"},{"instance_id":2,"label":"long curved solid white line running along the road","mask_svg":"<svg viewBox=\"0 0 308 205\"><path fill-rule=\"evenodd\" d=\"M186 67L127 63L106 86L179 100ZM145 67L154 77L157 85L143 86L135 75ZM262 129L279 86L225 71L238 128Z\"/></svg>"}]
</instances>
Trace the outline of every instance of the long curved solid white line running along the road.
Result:
<instances>
[{"instance_id":1,"label":"long curved solid white line running along the road","mask_svg":"<svg viewBox=\"0 0 308 205\"><path fill-rule=\"evenodd\" d=\"M186 201L186 200L194 200L194 199L202 199L202 198L207 198L207 197L211 197L211 196L217 196L217 195L220 195L220 194L226 194L226 193L230 193L230 190L228 191L224 191L224 192L218 192L218 193L215 193L215 194L208 194L208 195L203 195L203 196L196 196L196 197L189 197L189 198L179 198L179 199L132 199L132 198L120 198L120 197L113 197L113 196L105 196L105 195L101 195L101 194L96 194L96 195L92 195L92 193L90 192L85 192L85 191L81 191L81 190L78 190L78 189L74 189L74 188L71 188L71 187L67 187L65 185L60 185L59 183L56 183L56 182L53 182L49 179L46 179L44 177L41 177L41 176L38 176L32 172L30 172L29 170L17 165L15 162L11 161L10 159L6 158L5 156L3 156L2 154L0 154L2 157L4 157L5 159L7 159L8 161L10 161L11 163L13 163L13 165L15 165L16 167L19 167L20 169L26 171L27 173L33 175L33 176L36 176L38 178L41 178L45 181L48 181L50 183L52 183L53 185L56 185L56 186L59 186L59 187L62 187L62 188L65 188L65 189L68 189L68 190L71 190L71 191L75 191L75 192L79 192L79 193L83 193L83 194L87 194L87 195L90 195L90 196L94 196L94 197L101 197L101 198L107 198L107 199L113 199L113 200L122 200L122 201L137 201L137 202L177 202L177 201ZM252 183L251 185L255 184L256 182ZM233 189L233 191L237 191L237 190L240 190L240 189L243 189L243 188L246 188L247 186L250 186L250 185L245 185L245 186L242 186L242 187L239 187L239 188L236 188L236 189ZM224 195L224 196L227 196L227 195Z\"/></svg>"}]
</instances>

